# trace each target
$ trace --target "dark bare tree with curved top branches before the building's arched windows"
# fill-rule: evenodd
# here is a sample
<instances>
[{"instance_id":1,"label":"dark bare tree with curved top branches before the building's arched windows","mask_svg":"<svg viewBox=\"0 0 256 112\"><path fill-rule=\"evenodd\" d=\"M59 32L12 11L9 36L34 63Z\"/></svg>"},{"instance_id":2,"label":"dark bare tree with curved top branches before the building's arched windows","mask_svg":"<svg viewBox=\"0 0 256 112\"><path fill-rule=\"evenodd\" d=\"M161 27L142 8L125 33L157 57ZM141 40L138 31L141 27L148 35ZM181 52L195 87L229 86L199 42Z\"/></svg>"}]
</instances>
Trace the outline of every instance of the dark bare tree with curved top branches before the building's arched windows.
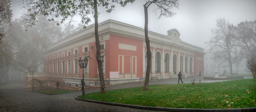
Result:
<instances>
[{"instance_id":1,"label":"dark bare tree with curved top branches before the building's arched windows","mask_svg":"<svg viewBox=\"0 0 256 112\"><path fill-rule=\"evenodd\" d=\"M144 6L144 14L145 14L145 42L147 45L147 70L146 70L146 78L145 83L143 86L143 90L148 90L148 83L149 83L149 72L151 67L151 53L150 53L150 44L149 44L149 38L148 38L148 7L151 4L155 4L156 8L154 9L154 12L159 13L158 19L162 16L164 17L172 17L175 15L174 12L171 11L173 7L178 8L179 2L178 0L146 0L146 3ZM144 57L145 58L145 57Z\"/></svg>"}]
</instances>

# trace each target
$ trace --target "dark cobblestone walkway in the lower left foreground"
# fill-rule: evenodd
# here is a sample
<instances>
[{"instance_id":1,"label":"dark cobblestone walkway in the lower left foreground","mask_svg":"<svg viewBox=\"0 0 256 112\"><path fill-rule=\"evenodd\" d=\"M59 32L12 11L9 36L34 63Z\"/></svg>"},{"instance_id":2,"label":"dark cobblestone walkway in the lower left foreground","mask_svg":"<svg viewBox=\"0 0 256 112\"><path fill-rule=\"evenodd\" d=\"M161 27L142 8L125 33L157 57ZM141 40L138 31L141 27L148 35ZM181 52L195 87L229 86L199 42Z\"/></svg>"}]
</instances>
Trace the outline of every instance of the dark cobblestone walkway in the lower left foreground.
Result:
<instances>
[{"instance_id":1,"label":"dark cobblestone walkway in the lower left foreground","mask_svg":"<svg viewBox=\"0 0 256 112\"><path fill-rule=\"evenodd\" d=\"M157 112L33 92L0 89L0 112Z\"/></svg>"}]
</instances>

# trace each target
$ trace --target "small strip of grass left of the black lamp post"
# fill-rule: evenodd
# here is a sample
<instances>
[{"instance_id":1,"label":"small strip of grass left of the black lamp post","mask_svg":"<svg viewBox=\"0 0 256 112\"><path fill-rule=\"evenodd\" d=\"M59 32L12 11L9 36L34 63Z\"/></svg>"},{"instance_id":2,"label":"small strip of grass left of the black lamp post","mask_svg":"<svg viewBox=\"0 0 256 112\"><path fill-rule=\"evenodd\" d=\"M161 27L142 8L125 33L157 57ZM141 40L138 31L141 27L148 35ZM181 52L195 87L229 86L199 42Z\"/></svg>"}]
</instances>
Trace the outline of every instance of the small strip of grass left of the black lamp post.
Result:
<instances>
[{"instance_id":1,"label":"small strip of grass left of the black lamp post","mask_svg":"<svg viewBox=\"0 0 256 112\"><path fill-rule=\"evenodd\" d=\"M77 92L78 90L62 90L62 89L44 89L44 90L36 90L35 92L47 93L47 94L64 94L69 92Z\"/></svg>"}]
</instances>

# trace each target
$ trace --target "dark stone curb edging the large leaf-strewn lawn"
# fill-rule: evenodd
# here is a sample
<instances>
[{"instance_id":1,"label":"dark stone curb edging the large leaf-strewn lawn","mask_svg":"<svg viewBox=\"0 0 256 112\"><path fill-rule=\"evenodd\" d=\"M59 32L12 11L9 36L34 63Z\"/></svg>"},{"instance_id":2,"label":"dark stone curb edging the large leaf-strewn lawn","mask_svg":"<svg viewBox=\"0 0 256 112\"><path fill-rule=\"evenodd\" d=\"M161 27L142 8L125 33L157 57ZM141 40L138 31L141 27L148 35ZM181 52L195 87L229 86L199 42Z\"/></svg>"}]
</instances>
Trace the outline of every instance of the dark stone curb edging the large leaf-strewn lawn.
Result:
<instances>
[{"instance_id":1,"label":"dark stone curb edging the large leaf-strewn lawn","mask_svg":"<svg viewBox=\"0 0 256 112\"><path fill-rule=\"evenodd\" d=\"M98 103L104 105L112 105L119 107L146 109L146 110L158 110L158 111L171 111L171 112L255 112L254 108L227 108L227 109L200 109L200 108L165 108L165 107L151 107L151 106L141 106L141 105L131 105L123 103L113 103L106 101L89 100L75 97L76 100L86 101L91 103Z\"/></svg>"}]
</instances>

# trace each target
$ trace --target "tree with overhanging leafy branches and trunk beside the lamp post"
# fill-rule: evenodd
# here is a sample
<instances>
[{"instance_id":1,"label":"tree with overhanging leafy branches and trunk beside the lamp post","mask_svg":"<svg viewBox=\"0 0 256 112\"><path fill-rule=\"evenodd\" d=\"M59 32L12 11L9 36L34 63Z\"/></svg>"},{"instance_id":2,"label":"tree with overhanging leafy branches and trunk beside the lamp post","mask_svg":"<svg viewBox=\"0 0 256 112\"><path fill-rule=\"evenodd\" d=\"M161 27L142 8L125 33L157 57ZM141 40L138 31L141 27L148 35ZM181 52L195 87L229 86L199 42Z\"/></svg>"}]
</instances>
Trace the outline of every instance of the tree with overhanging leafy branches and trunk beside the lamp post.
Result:
<instances>
[{"instance_id":1,"label":"tree with overhanging leafy branches and trunk beside the lamp post","mask_svg":"<svg viewBox=\"0 0 256 112\"><path fill-rule=\"evenodd\" d=\"M35 18L38 14L48 17L50 21L55 18L60 19L60 23L69 20L69 23L74 21L75 17L80 17L81 23L86 28L86 25L91 21L90 14L95 19L95 41L96 41L96 56L98 63L98 71L100 78L100 92L105 93L105 83L102 71L102 61L100 59L100 44L98 37L98 11L97 6L105 7L106 12L112 12L115 5L119 3L125 6L127 3L133 3L134 0L72 0L72 1L56 1L56 0L22 0L23 7L27 8L30 14L26 19L28 26L35 25ZM59 25L59 23L57 23Z\"/></svg>"}]
</instances>

